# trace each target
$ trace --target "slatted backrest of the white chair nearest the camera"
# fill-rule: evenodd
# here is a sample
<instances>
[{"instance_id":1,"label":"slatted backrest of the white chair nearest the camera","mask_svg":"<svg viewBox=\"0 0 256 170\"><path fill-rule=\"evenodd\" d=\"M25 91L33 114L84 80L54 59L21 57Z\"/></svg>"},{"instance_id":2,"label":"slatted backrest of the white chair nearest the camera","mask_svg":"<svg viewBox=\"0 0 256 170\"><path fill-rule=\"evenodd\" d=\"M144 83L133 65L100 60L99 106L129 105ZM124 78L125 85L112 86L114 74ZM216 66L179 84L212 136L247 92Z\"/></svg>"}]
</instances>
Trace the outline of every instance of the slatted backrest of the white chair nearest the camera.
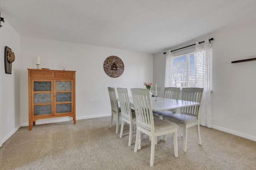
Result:
<instances>
[{"instance_id":1,"label":"slatted backrest of the white chair nearest the camera","mask_svg":"<svg viewBox=\"0 0 256 170\"><path fill-rule=\"evenodd\" d=\"M154 132L154 119L149 97L149 90L142 88L132 88L132 98L136 114L136 124L142 128L147 127Z\"/></svg>"}]
</instances>

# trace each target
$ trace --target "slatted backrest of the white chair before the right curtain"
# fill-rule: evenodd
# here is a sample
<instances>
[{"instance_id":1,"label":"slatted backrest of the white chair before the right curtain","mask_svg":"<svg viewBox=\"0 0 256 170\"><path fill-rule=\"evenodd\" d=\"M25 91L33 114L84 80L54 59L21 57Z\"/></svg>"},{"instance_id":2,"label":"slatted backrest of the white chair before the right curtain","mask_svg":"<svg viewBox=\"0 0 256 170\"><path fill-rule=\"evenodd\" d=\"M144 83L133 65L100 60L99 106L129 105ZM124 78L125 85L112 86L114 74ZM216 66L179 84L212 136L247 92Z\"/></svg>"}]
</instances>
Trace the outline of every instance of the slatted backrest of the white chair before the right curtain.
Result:
<instances>
[{"instance_id":1,"label":"slatted backrest of the white chair before the right curtain","mask_svg":"<svg viewBox=\"0 0 256 170\"><path fill-rule=\"evenodd\" d=\"M181 100L201 103L203 92L204 88L182 88ZM200 106L183 107L180 112L198 117L199 109Z\"/></svg>"}]
</instances>

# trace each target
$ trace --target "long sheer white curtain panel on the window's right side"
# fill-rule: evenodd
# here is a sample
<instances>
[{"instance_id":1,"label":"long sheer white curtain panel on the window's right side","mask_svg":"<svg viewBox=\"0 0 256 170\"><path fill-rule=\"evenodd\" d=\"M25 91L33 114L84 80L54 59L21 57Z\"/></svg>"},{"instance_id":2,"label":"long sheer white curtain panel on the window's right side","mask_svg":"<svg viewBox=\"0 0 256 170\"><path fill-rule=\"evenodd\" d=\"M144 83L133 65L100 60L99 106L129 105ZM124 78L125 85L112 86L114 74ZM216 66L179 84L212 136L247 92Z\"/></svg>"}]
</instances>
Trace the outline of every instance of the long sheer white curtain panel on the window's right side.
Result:
<instances>
[{"instance_id":1,"label":"long sheer white curtain panel on the window's right side","mask_svg":"<svg viewBox=\"0 0 256 170\"><path fill-rule=\"evenodd\" d=\"M202 43L201 45L196 42L194 56L196 86L199 88L204 88L202 105L200 110L200 124L211 128L212 112L210 92L212 91L212 59L210 59L210 47L211 44L209 43L208 39L205 39L204 43Z\"/></svg>"}]
</instances>

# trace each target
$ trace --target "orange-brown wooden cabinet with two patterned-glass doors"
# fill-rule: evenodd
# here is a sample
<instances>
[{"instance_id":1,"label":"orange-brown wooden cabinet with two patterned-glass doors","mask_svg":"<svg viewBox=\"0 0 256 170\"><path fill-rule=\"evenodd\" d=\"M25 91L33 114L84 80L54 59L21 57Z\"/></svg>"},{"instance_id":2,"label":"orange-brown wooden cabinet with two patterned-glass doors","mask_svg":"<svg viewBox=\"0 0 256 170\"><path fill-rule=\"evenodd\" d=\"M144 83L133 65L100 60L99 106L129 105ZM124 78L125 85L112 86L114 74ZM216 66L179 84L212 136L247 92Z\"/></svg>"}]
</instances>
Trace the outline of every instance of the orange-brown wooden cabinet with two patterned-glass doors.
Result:
<instances>
[{"instance_id":1,"label":"orange-brown wooden cabinet with two patterned-glass doors","mask_svg":"<svg viewBox=\"0 0 256 170\"><path fill-rule=\"evenodd\" d=\"M28 69L28 129L38 119L63 116L76 124L76 71Z\"/></svg>"}]
</instances>

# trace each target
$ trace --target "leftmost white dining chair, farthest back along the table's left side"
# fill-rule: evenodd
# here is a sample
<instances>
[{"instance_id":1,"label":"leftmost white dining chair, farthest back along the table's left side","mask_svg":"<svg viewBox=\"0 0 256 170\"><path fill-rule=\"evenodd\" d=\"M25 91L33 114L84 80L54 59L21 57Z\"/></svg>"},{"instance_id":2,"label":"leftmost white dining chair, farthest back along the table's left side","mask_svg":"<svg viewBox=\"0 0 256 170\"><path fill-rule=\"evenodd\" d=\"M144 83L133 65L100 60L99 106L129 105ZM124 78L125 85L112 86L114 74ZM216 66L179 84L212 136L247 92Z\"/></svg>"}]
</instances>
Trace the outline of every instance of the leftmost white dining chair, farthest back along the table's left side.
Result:
<instances>
[{"instance_id":1,"label":"leftmost white dining chair, farthest back along the table's left side","mask_svg":"<svg viewBox=\"0 0 256 170\"><path fill-rule=\"evenodd\" d=\"M116 134L117 134L118 133L118 129L119 129L119 117L120 117L121 108L118 107L118 102L116 100L115 88L108 87L108 94L109 94L109 97L110 97L110 104L111 104L110 128L112 127L113 117L115 115L117 117L117 121L116 121Z\"/></svg>"}]
</instances>

